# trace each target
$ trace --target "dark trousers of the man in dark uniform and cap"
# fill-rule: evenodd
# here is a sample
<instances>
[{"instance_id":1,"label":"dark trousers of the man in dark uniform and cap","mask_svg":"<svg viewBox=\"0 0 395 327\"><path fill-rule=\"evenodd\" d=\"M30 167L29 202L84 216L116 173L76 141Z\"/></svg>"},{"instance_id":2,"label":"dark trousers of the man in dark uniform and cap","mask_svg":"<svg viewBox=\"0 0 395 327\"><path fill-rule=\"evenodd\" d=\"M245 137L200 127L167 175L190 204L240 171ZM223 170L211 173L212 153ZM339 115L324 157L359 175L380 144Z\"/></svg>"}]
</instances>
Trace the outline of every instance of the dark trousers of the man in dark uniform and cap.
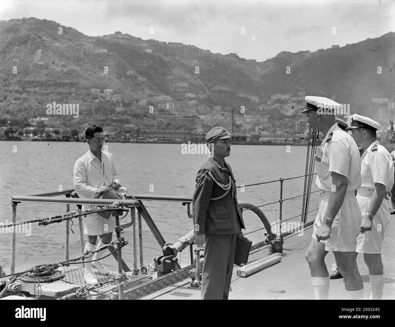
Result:
<instances>
[{"instance_id":1,"label":"dark trousers of the man in dark uniform and cap","mask_svg":"<svg viewBox=\"0 0 395 327\"><path fill-rule=\"evenodd\" d=\"M235 250L236 234L206 234L201 285L202 300L228 299Z\"/></svg>"}]
</instances>

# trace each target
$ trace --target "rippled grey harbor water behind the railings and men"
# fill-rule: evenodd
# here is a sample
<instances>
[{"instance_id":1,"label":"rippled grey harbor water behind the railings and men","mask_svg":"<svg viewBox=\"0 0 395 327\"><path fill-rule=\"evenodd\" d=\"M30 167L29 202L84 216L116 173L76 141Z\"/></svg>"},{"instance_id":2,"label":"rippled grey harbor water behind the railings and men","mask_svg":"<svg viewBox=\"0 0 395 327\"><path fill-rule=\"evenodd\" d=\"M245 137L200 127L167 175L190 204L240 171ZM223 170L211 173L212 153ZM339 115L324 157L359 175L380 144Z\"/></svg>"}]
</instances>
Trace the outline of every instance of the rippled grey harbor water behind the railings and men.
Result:
<instances>
[{"instance_id":1,"label":"rippled grey harbor water behind the railings and men","mask_svg":"<svg viewBox=\"0 0 395 327\"><path fill-rule=\"evenodd\" d=\"M132 194L173 195L192 197L198 169L207 154L183 154L180 144L106 143L115 159L121 185ZM75 160L88 150L80 142L1 141L0 151L0 222L12 221L11 196L43 191L58 191L73 187ZM290 178L305 174L307 147L231 145L226 161L232 167L237 186ZM304 178L284 181L283 199L303 194ZM312 191L317 188L313 185ZM280 183L263 184L238 189L239 201L255 206L278 201ZM282 217L301 214L303 197L283 203ZM192 229L186 206L181 203L145 201L145 206L167 242L174 242ZM318 207L318 193L312 194L309 210ZM75 210L76 206L71 206ZM261 207L270 223L279 218L279 204ZM66 211L65 204L21 203L17 206L17 221L54 216ZM243 214L246 232L263 227L250 211ZM313 219L315 212L309 215ZM293 219L300 221L300 217ZM72 226L70 245L79 244L78 221ZM11 234L0 233L0 264L9 267ZM65 223L38 226L17 234L16 265L26 256L59 252L64 245ZM265 230L249 234L254 243L264 240ZM310 232L310 231L307 231ZM30 235L29 235L30 234ZM143 224L143 236L150 235ZM131 231L124 235L130 240ZM145 249L153 257L160 255L160 246ZM59 258L61 260L61 258ZM8 269L7 269L8 271Z\"/></svg>"}]
</instances>

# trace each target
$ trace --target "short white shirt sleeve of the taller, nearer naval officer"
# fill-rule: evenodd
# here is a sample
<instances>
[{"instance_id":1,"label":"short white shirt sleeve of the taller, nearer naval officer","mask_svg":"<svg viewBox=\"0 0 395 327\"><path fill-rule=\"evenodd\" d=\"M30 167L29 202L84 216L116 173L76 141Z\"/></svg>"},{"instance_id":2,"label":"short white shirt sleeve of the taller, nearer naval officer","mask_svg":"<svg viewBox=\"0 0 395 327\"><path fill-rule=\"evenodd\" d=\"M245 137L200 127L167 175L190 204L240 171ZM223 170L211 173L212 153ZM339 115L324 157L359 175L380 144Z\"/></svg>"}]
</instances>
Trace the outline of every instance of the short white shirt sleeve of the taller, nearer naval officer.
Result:
<instances>
[{"instance_id":1,"label":"short white shirt sleeve of the taller, nearer naval officer","mask_svg":"<svg viewBox=\"0 0 395 327\"><path fill-rule=\"evenodd\" d=\"M331 142L328 151L329 172L348 177L350 171L350 149L346 139Z\"/></svg>"}]
</instances>

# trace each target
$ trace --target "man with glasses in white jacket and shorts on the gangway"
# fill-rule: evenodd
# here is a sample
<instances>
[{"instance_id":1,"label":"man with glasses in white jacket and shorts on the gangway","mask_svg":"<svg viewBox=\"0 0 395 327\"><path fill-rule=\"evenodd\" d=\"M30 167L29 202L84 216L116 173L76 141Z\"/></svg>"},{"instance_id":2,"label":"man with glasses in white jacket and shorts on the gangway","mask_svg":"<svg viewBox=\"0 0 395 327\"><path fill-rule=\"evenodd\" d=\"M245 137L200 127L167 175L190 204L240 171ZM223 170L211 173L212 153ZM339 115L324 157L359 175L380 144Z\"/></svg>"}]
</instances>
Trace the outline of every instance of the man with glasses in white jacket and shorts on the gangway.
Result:
<instances>
[{"instance_id":1,"label":"man with glasses in white jacket and shorts on the gangway","mask_svg":"<svg viewBox=\"0 0 395 327\"><path fill-rule=\"evenodd\" d=\"M114 190L119 190L119 176L115 168L113 155L109 152L102 151L105 142L103 128L92 125L85 131L85 137L89 145L89 150L74 164L74 189L79 197L94 198L102 192L107 192L109 186ZM84 205L82 210L89 209L90 205ZM94 251L111 242L113 231L115 230L115 217L112 215L105 219L99 214L90 214L83 217L84 234L88 235L88 241L85 243L85 251ZM96 247L97 236L101 240ZM97 260L103 255L104 251L95 253L93 259ZM101 275L108 275L108 270L100 261L85 263L84 281L93 285L98 281L92 275L92 266L98 269Z\"/></svg>"}]
</instances>

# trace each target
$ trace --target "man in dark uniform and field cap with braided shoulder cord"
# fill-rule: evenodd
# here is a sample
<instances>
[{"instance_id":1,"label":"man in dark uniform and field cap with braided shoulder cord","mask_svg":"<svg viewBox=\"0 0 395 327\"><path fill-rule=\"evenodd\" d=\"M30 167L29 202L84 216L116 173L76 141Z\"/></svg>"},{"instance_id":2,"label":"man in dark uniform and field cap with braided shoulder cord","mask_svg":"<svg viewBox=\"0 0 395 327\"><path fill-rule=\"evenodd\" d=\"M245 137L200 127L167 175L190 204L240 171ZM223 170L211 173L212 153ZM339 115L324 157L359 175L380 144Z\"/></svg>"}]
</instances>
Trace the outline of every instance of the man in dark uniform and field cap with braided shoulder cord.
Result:
<instances>
[{"instance_id":1,"label":"man in dark uniform and field cap with braided shoulder cord","mask_svg":"<svg viewBox=\"0 0 395 327\"><path fill-rule=\"evenodd\" d=\"M235 178L225 157L231 137L222 127L206 134L211 156L196 176L193 196L195 243L204 248L201 299L228 299L235 260L236 234L245 229Z\"/></svg>"}]
</instances>

